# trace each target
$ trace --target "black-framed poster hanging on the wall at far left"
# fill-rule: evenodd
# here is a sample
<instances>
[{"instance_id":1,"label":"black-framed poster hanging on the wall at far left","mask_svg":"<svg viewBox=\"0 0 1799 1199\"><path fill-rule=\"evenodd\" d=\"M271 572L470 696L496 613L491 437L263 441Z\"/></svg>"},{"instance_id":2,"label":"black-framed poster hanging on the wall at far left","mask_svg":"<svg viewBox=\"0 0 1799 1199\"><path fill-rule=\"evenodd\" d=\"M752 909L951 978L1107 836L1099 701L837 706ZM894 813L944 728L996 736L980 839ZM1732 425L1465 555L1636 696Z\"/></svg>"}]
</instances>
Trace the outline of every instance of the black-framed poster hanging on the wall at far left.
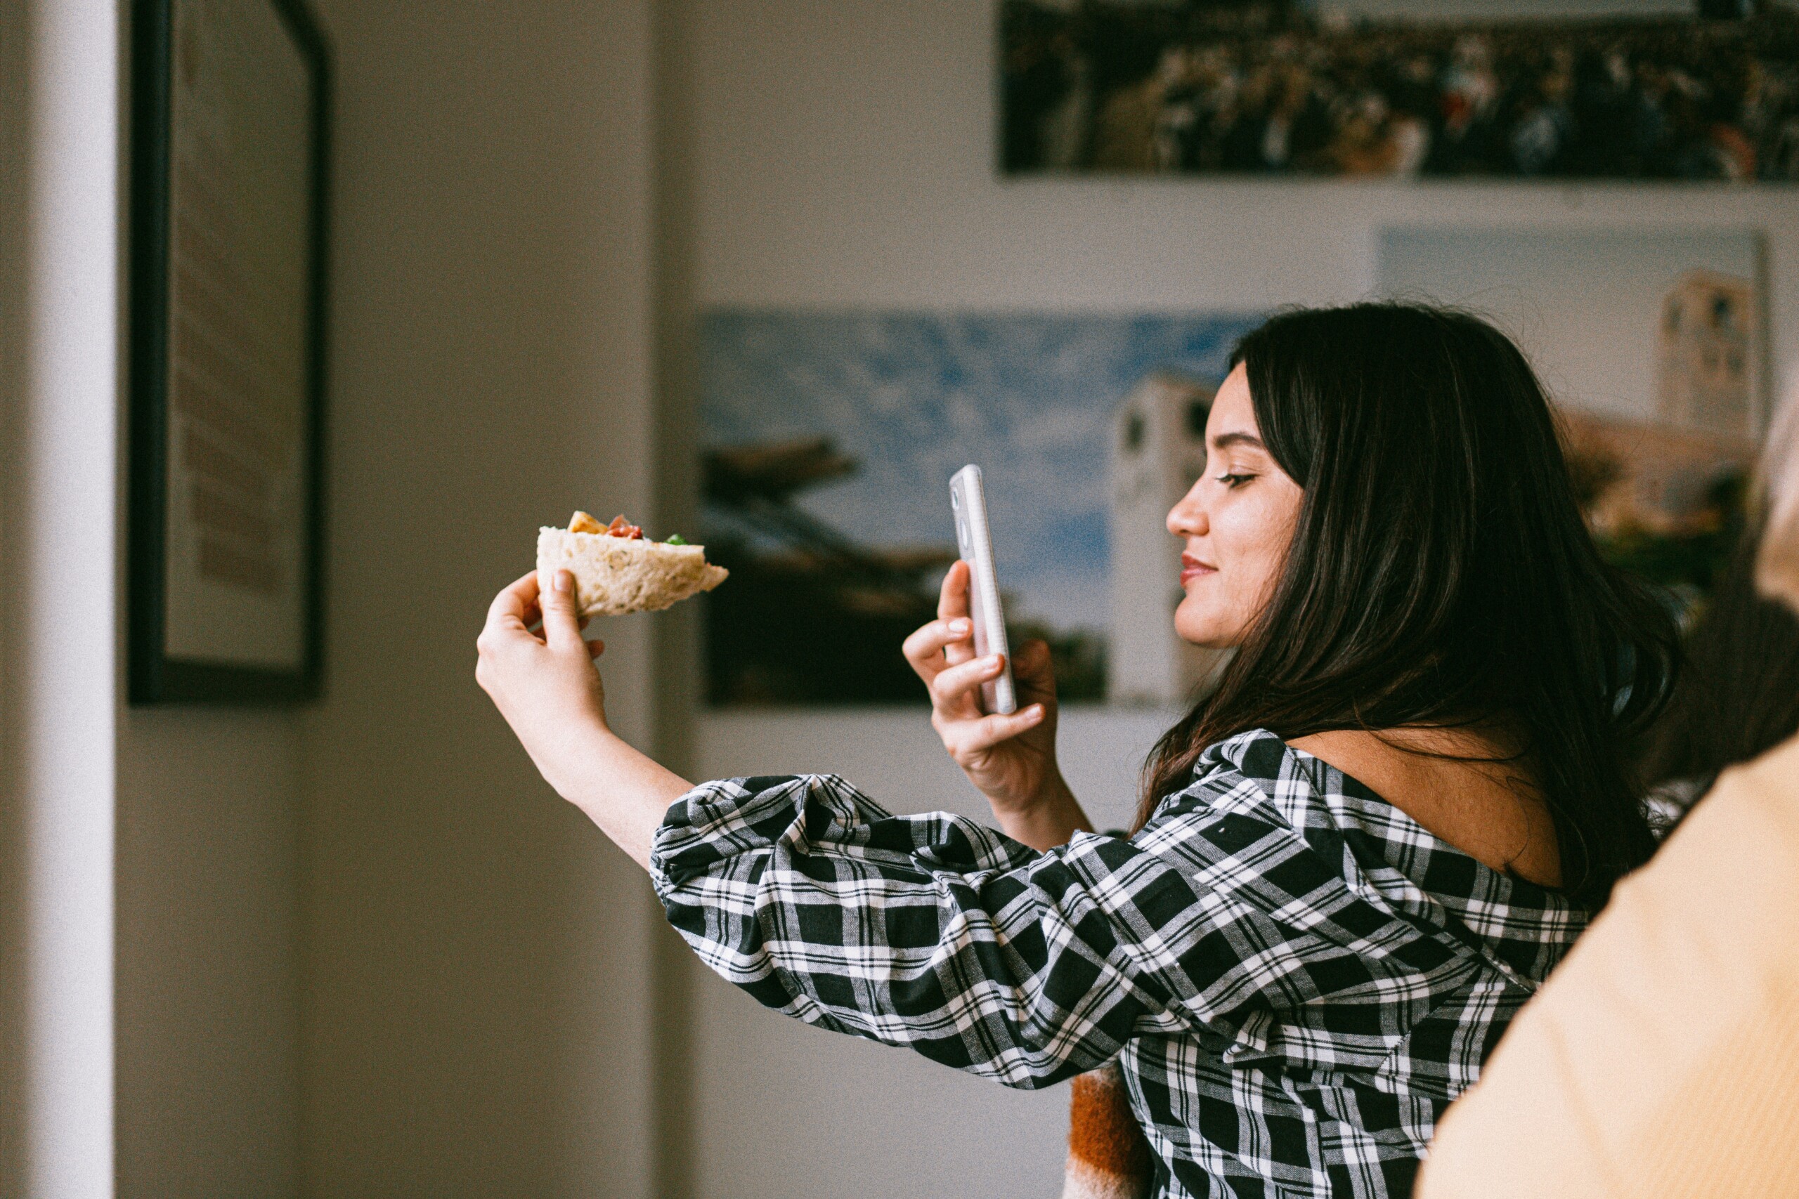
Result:
<instances>
[{"instance_id":1,"label":"black-framed poster hanging on the wall at far left","mask_svg":"<svg viewBox=\"0 0 1799 1199\"><path fill-rule=\"evenodd\" d=\"M139 0L130 697L282 701L322 667L329 58L299 0Z\"/></svg>"}]
</instances>

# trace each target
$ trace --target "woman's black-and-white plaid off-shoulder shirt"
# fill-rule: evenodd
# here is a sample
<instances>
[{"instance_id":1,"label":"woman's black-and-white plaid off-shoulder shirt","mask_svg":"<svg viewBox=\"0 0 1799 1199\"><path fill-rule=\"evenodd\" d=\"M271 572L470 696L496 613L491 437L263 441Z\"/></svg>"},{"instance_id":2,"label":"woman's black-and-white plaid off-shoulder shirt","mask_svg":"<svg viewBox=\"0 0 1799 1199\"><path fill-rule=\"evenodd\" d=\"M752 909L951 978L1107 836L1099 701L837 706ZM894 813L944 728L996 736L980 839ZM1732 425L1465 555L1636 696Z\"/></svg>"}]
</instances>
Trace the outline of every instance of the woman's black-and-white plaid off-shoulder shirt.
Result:
<instances>
[{"instance_id":1,"label":"woman's black-and-white plaid off-shoulder shirt","mask_svg":"<svg viewBox=\"0 0 1799 1199\"><path fill-rule=\"evenodd\" d=\"M1274 733L1128 841L1038 852L833 775L694 787L669 922L808 1023L1040 1088L1121 1057L1166 1195L1403 1195L1445 1106L1585 928Z\"/></svg>"}]
</instances>

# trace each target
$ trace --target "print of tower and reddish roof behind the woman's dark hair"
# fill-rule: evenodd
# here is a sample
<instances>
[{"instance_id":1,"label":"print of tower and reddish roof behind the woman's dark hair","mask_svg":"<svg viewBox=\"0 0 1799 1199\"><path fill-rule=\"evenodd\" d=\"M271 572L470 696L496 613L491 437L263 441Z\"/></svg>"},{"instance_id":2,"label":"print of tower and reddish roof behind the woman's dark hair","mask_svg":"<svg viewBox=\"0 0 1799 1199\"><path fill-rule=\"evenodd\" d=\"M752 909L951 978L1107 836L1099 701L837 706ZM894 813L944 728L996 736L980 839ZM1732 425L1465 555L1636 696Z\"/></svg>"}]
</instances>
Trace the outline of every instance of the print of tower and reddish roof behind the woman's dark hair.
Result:
<instances>
[{"instance_id":1,"label":"print of tower and reddish roof behind the woman's dark hair","mask_svg":"<svg viewBox=\"0 0 1799 1199\"><path fill-rule=\"evenodd\" d=\"M1698 611L1772 413L1765 232L1394 226L1376 273L1383 297L1472 309L1524 349L1601 555Z\"/></svg>"}]
</instances>

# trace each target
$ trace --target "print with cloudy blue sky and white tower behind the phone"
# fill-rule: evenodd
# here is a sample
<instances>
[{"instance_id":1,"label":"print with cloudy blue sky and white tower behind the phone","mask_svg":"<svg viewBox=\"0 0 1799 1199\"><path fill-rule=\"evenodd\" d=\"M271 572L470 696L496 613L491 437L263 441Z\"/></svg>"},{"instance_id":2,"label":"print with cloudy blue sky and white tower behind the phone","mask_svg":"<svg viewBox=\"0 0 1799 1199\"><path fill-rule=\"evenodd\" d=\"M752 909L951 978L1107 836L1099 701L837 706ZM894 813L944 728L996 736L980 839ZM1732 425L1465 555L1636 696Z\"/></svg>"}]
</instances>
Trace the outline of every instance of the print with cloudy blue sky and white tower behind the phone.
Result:
<instances>
[{"instance_id":1,"label":"print with cloudy blue sky and white tower behind the phone","mask_svg":"<svg viewBox=\"0 0 1799 1199\"><path fill-rule=\"evenodd\" d=\"M1015 645L1067 703L1173 705L1168 509L1254 313L714 307L700 320L712 706L925 703L900 654L955 561L950 475L986 476Z\"/></svg>"}]
</instances>

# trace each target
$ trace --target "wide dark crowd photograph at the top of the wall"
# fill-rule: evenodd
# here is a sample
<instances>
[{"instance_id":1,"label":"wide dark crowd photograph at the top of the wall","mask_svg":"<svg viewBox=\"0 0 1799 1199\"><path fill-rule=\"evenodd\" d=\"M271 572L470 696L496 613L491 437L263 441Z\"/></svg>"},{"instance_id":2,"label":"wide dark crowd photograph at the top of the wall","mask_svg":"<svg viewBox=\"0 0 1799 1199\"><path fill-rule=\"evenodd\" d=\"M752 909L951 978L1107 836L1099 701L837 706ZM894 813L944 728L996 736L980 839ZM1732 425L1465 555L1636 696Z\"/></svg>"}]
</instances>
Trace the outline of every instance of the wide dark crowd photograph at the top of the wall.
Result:
<instances>
[{"instance_id":1,"label":"wide dark crowd photograph at the top of the wall","mask_svg":"<svg viewBox=\"0 0 1799 1199\"><path fill-rule=\"evenodd\" d=\"M1000 171L1799 178L1792 0L1002 0Z\"/></svg>"}]
</instances>

